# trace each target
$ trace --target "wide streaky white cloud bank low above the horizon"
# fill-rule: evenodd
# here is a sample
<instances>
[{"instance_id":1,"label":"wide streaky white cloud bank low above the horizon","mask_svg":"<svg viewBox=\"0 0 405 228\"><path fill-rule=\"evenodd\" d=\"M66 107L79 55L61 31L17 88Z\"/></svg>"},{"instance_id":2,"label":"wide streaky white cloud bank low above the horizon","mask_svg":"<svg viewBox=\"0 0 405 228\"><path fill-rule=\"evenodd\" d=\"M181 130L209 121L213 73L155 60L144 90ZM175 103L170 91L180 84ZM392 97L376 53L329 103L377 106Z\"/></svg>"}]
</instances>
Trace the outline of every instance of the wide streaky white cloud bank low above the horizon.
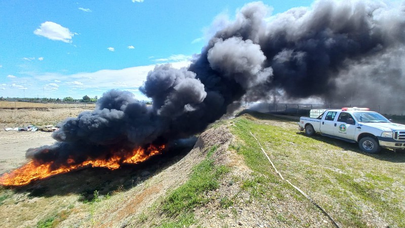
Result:
<instances>
[{"instance_id":1,"label":"wide streaky white cloud bank low above the horizon","mask_svg":"<svg viewBox=\"0 0 405 228\"><path fill-rule=\"evenodd\" d=\"M190 65L190 61L172 62L175 68L187 67ZM91 97L97 95L101 96L103 92L110 89L130 90L135 94L135 98L139 100L150 100L146 98L141 92L136 91L146 81L146 77L149 71L153 70L156 64L146 66L135 66L124 69L102 69L95 72L79 72L74 74L62 74L54 72L37 73L32 71L19 72L23 75L18 76L18 79L25 79L27 75L28 83L33 84L29 88L31 91L39 88L41 95L44 85L55 83L59 85L58 90L46 89L46 97L66 97L71 96L74 98L82 98L84 95ZM111 79L113 79L111 81ZM26 83L19 82L19 84L27 85ZM0 87L1 88L1 87ZM8 89L8 87L6 87ZM91 92L91 91L98 92ZM11 90L12 91L12 90ZM17 90L15 90L17 91ZM47 92L48 91L48 92ZM70 92L69 92L70 91ZM48 95L47 95L48 94ZM18 94L13 96L19 96Z\"/></svg>"}]
</instances>

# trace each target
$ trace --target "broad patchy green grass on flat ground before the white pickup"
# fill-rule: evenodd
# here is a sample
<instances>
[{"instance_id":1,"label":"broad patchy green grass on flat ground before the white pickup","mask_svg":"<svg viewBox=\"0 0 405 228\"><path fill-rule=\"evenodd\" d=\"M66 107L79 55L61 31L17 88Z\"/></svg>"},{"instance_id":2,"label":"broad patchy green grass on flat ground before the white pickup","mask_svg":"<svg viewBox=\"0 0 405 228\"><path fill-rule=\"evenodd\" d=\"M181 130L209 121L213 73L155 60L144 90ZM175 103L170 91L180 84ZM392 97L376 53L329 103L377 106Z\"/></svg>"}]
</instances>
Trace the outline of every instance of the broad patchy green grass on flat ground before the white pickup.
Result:
<instances>
[{"instance_id":1,"label":"broad patchy green grass on flat ground before the white pickup","mask_svg":"<svg viewBox=\"0 0 405 228\"><path fill-rule=\"evenodd\" d=\"M355 144L319 135L307 137L296 128L263 124L251 116L233 122L232 133L240 141L231 148L255 171L253 179L242 181L242 188L253 197L268 197L266 188L284 185L284 181L274 175L250 131L278 171L304 192L318 196L315 201L344 227L365 227L365 214L381 217L390 227L405 227L405 170L403 162L397 162L403 161L399 155L364 155ZM289 188L284 187L276 188Z\"/></svg>"}]
</instances>

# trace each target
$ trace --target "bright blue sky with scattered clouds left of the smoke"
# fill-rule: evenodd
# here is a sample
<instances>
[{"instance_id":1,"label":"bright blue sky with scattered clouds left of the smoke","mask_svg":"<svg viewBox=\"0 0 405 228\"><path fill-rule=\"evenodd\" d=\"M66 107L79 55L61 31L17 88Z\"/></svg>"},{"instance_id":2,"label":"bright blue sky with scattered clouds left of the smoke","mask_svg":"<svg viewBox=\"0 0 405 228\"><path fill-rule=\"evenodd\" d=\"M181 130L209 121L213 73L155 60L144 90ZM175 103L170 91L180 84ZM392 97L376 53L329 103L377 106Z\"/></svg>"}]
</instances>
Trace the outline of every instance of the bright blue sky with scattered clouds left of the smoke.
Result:
<instances>
[{"instance_id":1,"label":"bright blue sky with scattered clouds left of the smoke","mask_svg":"<svg viewBox=\"0 0 405 228\"><path fill-rule=\"evenodd\" d=\"M82 98L138 88L155 64L187 66L251 1L0 2L0 96ZM263 1L281 13L312 1ZM269 15L270 16L270 15Z\"/></svg>"}]
</instances>

